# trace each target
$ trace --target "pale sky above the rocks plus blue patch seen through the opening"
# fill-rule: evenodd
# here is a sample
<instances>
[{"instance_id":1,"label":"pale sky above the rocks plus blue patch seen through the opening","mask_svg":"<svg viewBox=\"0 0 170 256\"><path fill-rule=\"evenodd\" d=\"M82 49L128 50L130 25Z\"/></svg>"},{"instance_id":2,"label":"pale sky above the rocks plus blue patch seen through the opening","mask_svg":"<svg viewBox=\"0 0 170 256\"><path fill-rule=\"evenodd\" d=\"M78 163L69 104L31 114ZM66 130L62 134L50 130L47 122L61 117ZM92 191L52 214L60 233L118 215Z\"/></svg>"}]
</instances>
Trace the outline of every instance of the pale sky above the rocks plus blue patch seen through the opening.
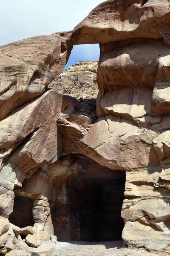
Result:
<instances>
[{"instance_id":1,"label":"pale sky above the rocks plus blue patch seen through the opening","mask_svg":"<svg viewBox=\"0 0 170 256\"><path fill-rule=\"evenodd\" d=\"M0 46L35 35L72 30L103 0L6 0L0 3ZM98 60L98 45L74 46L67 67Z\"/></svg>"}]
</instances>

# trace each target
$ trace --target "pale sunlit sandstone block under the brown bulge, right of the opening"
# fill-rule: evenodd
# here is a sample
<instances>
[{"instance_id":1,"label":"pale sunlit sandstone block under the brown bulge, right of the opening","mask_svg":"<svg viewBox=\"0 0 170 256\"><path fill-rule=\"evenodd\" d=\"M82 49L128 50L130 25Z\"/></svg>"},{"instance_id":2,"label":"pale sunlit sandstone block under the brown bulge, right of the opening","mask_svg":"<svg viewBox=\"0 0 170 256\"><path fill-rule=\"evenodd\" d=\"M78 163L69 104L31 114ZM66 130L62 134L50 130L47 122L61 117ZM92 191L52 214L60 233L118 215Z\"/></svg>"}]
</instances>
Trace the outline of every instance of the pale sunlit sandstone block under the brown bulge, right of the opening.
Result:
<instances>
[{"instance_id":1,"label":"pale sunlit sandstone block under the brown bulge, right of the opening","mask_svg":"<svg viewBox=\"0 0 170 256\"><path fill-rule=\"evenodd\" d=\"M115 92L106 92L99 101L99 115L108 113L122 116L132 122L139 122L139 119L150 114L152 90L130 87L123 87ZM131 102L130 102L131 101Z\"/></svg>"}]
</instances>

